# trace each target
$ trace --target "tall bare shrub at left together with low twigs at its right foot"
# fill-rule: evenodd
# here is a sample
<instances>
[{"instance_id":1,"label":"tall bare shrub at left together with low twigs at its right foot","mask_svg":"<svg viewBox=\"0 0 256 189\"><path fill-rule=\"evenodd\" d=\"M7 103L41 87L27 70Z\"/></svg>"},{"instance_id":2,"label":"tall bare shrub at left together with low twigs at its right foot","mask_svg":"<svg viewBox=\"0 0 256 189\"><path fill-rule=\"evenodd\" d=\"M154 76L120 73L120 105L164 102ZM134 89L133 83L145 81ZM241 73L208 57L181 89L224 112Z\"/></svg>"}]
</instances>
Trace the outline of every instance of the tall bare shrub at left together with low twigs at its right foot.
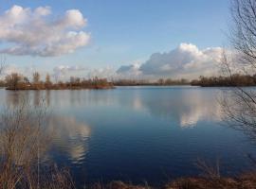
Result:
<instances>
[{"instance_id":1,"label":"tall bare shrub at left together with low twigs at its right foot","mask_svg":"<svg viewBox=\"0 0 256 189\"><path fill-rule=\"evenodd\" d=\"M74 188L68 169L43 162L50 147L46 106L23 98L0 114L0 188Z\"/></svg>"}]
</instances>

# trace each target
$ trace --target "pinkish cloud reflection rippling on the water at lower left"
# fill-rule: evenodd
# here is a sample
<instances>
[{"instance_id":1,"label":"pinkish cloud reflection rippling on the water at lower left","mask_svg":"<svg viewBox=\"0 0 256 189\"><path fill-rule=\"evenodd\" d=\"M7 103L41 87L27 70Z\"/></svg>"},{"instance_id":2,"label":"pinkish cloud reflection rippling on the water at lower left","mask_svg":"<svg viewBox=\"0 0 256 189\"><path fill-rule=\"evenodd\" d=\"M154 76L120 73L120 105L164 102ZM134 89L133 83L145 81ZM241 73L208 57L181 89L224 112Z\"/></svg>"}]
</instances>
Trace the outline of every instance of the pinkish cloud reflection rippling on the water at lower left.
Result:
<instances>
[{"instance_id":1,"label":"pinkish cloud reflection rippling on the water at lower left","mask_svg":"<svg viewBox=\"0 0 256 189\"><path fill-rule=\"evenodd\" d=\"M51 116L46 128L48 133L53 133L53 146L64 150L73 163L80 163L88 149L87 140L91 129L74 117Z\"/></svg>"}]
</instances>

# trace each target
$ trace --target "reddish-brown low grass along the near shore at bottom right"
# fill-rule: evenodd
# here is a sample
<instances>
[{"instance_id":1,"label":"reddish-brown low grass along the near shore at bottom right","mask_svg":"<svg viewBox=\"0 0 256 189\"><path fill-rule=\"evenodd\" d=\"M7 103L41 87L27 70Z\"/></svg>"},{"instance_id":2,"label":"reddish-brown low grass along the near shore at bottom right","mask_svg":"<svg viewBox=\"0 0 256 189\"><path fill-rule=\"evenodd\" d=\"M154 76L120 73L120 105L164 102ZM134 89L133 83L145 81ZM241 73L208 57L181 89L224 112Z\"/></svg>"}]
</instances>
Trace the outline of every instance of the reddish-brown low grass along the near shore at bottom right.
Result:
<instances>
[{"instance_id":1,"label":"reddish-brown low grass along the near shore at bottom right","mask_svg":"<svg viewBox=\"0 0 256 189\"><path fill-rule=\"evenodd\" d=\"M255 162L252 162L255 164ZM198 160L195 165L200 169L200 177L180 178L161 186L150 186L148 183L133 185L122 181L108 184L95 184L93 189L256 189L256 172L249 172L238 177L222 177L219 161L214 166Z\"/></svg>"}]
</instances>

